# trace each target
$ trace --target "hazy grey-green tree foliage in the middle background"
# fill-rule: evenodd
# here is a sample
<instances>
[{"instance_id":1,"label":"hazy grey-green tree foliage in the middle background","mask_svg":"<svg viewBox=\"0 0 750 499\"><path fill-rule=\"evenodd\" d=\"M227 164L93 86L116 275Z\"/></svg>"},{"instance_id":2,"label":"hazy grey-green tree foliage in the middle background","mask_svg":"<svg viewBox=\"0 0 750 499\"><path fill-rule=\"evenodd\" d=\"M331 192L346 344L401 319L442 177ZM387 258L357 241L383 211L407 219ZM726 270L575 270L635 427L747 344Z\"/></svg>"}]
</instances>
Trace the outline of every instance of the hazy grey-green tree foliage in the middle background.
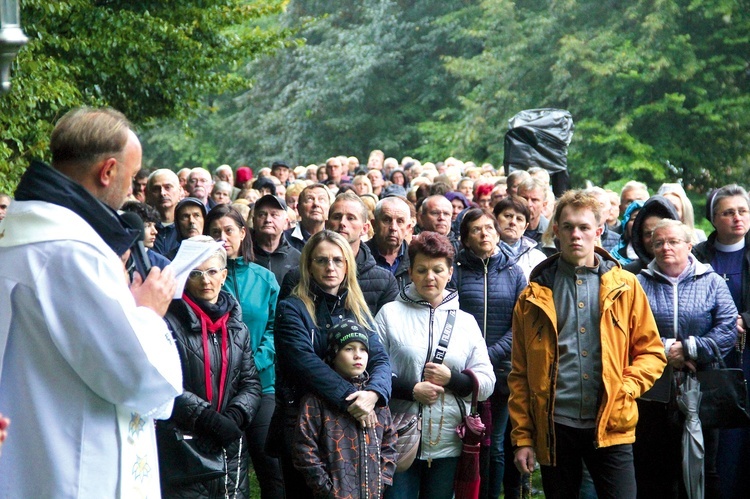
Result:
<instances>
[{"instance_id":1,"label":"hazy grey-green tree foliage in the middle background","mask_svg":"<svg viewBox=\"0 0 750 499\"><path fill-rule=\"evenodd\" d=\"M216 112L191 121L190 133L218 145L214 165L260 167L279 157L307 164L334 154L364 160L375 148L414 150L417 124L453 100L458 82L441 57L467 51L449 36L458 21L445 16L463 5L291 1L280 22L297 31L299 43L250 64L253 87L216 99ZM174 124L162 132L170 130L185 136ZM198 143L173 151L150 136L149 147L156 163L209 160Z\"/></svg>"}]
</instances>

